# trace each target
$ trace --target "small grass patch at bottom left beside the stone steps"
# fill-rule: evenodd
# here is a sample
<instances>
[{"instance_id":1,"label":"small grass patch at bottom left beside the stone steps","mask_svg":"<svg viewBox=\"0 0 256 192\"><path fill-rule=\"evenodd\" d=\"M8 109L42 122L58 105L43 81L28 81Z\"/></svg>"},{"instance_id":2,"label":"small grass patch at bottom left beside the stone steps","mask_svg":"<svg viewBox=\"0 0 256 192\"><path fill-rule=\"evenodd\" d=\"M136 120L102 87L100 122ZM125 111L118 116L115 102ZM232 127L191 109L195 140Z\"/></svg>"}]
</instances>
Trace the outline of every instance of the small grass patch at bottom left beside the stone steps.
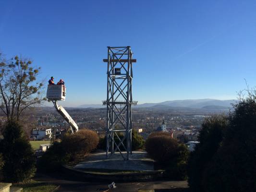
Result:
<instances>
[{"instance_id":1,"label":"small grass patch at bottom left beside the stone steps","mask_svg":"<svg viewBox=\"0 0 256 192\"><path fill-rule=\"evenodd\" d=\"M48 184L36 180L31 180L29 183L15 184L15 187L22 187L23 192L52 192L57 185Z\"/></svg>"}]
</instances>

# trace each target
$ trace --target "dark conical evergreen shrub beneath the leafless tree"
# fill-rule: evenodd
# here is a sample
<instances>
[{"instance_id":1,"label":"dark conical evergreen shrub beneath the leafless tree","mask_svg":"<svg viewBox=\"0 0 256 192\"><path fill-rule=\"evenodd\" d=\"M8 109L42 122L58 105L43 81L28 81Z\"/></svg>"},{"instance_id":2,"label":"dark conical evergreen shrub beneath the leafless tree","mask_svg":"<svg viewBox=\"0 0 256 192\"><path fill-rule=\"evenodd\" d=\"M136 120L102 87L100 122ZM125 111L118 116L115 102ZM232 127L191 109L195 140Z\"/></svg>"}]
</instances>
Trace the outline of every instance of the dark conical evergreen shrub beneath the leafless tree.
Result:
<instances>
[{"instance_id":1,"label":"dark conical evergreen shrub beneath the leafless tree","mask_svg":"<svg viewBox=\"0 0 256 192\"><path fill-rule=\"evenodd\" d=\"M20 182L32 178L36 171L36 157L27 140L22 126L9 121L0 140L2 154L2 172L7 182Z\"/></svg>"}]
</instances>

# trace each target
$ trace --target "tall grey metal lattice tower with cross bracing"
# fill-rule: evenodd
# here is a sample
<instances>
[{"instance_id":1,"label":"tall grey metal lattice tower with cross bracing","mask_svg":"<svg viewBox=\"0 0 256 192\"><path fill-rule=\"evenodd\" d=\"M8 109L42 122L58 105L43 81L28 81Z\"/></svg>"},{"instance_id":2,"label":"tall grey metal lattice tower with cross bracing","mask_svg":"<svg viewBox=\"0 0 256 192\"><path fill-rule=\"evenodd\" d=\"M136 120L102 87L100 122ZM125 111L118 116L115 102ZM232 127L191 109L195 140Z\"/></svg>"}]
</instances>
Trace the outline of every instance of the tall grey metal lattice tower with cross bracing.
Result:
<instances>
[{"instance_id":1,"label":"tall grey metal lattice tower with cross bracing","mask_svg":"<svg viewBox=\"0 0 256 192\"><path fill-rule=\"evenodd\" d=\"M124 160L129 160L132 154L132 105L133 101L133 52L128 47L108 47L108 84L106 126L106 155L107 158L118 151ZM123 136L120 135L123 133ZM126 151L126 157L122 154Z\"/></svg>"}]
</instances>

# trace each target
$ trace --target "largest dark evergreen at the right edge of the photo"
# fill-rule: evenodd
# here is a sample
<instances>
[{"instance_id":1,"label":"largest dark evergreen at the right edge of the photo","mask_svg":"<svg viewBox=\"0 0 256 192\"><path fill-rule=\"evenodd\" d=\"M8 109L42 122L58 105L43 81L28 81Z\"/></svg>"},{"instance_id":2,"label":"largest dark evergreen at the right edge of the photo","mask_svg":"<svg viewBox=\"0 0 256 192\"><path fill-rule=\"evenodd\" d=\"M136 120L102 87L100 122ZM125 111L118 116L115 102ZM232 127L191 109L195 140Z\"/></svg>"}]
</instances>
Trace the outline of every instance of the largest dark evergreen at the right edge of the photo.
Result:
<instances>
[{"instance_id":1,"label":"largest dark evergreen at the right edge of the photo","mask_svg":"<svg viewBox=\"0 0 256 192\"><path fill-rule=\"evenodd\" d=\"M256 192L256 95L234 105L219 149L205 168L205 192Z\"/></svg>"}]
</instances>

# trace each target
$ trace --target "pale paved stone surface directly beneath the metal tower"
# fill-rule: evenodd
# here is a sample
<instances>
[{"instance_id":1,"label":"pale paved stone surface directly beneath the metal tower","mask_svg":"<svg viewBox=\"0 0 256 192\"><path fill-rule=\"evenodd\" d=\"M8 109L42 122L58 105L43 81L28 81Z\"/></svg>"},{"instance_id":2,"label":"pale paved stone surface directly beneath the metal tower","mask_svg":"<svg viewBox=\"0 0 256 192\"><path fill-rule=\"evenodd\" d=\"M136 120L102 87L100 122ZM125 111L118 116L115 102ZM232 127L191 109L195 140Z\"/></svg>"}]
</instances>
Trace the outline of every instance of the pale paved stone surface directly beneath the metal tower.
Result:
<instances>
[{"instance_id":1,"label":"pale paved stone surface directly beneath the metal tower","mask_svg":"<svg viewBox=\"0 0 256 192\"><path fill-rule=\"evenodd\" d=\"M123 153L125 156L126 153ZM73 168L103 168L103 169L117 169L117 170L154 170L154 161L147 157L144 151L135 151L130 156L130 160L123 160L121 154L116 152L108 159L106 153L91 154L86 157L86 161L77 164Z\"/></svg>"}]
</instances>

